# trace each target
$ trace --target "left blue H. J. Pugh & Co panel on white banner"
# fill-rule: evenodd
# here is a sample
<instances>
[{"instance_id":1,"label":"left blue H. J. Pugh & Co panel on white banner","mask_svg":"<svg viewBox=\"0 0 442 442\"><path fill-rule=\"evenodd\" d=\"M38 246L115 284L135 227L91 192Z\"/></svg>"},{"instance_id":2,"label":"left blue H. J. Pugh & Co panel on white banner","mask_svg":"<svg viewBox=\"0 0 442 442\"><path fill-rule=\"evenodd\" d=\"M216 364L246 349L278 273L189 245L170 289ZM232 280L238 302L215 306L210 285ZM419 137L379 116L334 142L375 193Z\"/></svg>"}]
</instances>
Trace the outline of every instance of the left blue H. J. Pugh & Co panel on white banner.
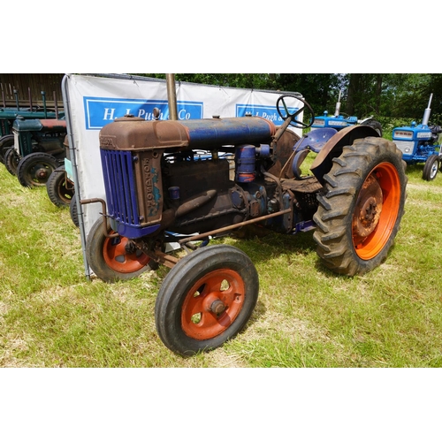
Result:
<instances>
[{"instance_id":1,"label":"left blue H. J. Pugh & Co panel on white banner","mask_svg":"<svg viewBox=\"0 0 442 442\"><path fill-rule=\"evenodd\" d=\"M131 100L126 98L83 97L86 129L99 130L115 118L131 114L146 120L154 119L153 110L160 110L159 119L169 119L167 100ZM177 102L178 119L202 118L202 102Z\"/></svg>"}]
</instances>

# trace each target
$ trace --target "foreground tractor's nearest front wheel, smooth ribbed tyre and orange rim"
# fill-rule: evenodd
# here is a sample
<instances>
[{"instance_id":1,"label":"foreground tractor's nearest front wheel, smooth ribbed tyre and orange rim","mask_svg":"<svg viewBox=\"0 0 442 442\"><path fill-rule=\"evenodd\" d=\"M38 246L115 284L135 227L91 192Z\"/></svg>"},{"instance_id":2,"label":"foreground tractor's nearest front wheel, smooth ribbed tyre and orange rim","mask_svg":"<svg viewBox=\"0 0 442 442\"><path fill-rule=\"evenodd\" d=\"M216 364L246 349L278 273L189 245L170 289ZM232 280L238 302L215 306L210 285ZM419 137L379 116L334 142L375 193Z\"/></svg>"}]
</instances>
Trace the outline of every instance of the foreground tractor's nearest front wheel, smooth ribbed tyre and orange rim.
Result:
<instances>
[{"instance_id":1,"label":"foreground tractor's nearest front wheel, smooth ribbed tyre and orange rim","mask_svg":"<svg viewBox=\"0 0 442 442\"><path fill-rule=\"evenodd\" d=\"M258 290L248 255L227 245L200 248L164 278L155 305L158 335L183 356L220 347L248 323Z\"/></svg>"}]
</instances>

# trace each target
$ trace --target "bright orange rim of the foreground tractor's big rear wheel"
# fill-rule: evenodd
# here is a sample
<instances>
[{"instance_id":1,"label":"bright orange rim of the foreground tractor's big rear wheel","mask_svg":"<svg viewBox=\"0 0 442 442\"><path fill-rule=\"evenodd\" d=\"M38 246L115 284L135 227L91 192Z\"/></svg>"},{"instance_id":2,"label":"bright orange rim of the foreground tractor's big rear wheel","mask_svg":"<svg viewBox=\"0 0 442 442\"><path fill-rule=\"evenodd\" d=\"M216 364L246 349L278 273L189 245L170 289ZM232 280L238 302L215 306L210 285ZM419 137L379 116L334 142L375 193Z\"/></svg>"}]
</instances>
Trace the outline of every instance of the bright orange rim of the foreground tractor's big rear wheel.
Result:
<instances>
[{"instance_id":1,"label":"bright orange rim of the foreground tractor's big rear wheel","mask_svg":"<svg viewBox=\"0 0 442 442\"><path fill-rule=\"evenodd\" d=\"M370 171L356 200L353 245L363 260L377 256L389 240L400 209L400 178L391 163Z\"/></svg>"}]
</instances>

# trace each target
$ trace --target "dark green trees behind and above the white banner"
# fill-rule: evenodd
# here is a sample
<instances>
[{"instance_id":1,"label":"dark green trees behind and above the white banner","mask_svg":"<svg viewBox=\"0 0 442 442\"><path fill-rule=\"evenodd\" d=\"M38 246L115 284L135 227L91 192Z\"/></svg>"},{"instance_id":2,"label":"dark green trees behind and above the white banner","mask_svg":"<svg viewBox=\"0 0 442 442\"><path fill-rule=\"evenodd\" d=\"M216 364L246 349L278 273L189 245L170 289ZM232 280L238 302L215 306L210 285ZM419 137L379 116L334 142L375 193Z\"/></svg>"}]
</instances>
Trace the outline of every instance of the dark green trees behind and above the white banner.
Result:
<instances>
[{"instance_id":1,"label":"dark green trees behind and above the white banner","mask_svg":"<svg viewBox=\"0 0 442 442\"><path fill-rule=\"evenodd\" d=\"M138 74L165 79L164 73ZM440 73L176 73L177 81L221 87L299 92L316 115L341 110L357 118L408 118L421 121L431 93L431 123L442 125Z\"/></svg>"}]
</instances>

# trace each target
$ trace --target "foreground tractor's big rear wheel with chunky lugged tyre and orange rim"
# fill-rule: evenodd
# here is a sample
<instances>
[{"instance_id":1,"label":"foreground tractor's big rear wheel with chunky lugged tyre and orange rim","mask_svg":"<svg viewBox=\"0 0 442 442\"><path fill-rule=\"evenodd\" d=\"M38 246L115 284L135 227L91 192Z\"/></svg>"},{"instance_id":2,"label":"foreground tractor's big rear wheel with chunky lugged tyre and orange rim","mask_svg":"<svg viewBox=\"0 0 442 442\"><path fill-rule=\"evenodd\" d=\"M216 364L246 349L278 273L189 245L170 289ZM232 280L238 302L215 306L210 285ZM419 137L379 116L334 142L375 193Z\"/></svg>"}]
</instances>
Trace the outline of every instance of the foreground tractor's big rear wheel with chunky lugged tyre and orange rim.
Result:
<instances>
[{"instance_id":1,"label":"foreground tractor's big rear wheel with chunky lugged tyre and orange rim","mask_svg":"<svg viewBox=\"0 0 442 442\"><path fill-rule=\"evenodd\" d=\"M333 159L318 196L317 255L331 271L362 275L385 260L404 213L406 164L392 141L354 141Z\"/></svg>"}]
</instances>

